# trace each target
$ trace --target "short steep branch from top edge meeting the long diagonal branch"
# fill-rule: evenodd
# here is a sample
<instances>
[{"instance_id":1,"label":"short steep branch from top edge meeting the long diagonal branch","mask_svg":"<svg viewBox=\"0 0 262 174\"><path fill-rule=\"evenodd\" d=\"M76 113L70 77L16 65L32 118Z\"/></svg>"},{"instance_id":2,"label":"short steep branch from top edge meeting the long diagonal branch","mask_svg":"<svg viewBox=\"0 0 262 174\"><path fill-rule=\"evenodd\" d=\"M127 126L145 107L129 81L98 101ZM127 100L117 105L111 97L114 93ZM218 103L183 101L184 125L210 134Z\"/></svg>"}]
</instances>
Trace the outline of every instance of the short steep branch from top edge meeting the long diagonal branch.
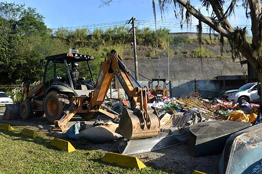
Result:
<instances>
[{"instance_id":1,"label":"short steep branch from top edge meeting the long diagonal branch","mask_svg":"<svg viewBox=\"0 0 262 174\"><path fill-rule=\"evenodd\" d=\"M209 2L211 3L213 11L216 13L218 19L222 20L225 16L225 13L224 13L224 10L222 9L222 6L219 4L219 1L218 0L209 0ZM227 31L230 31L230 32L234 31L234 29L232 28L227 18L225 18L222 26Z\"/></svg>"}]
</instances>

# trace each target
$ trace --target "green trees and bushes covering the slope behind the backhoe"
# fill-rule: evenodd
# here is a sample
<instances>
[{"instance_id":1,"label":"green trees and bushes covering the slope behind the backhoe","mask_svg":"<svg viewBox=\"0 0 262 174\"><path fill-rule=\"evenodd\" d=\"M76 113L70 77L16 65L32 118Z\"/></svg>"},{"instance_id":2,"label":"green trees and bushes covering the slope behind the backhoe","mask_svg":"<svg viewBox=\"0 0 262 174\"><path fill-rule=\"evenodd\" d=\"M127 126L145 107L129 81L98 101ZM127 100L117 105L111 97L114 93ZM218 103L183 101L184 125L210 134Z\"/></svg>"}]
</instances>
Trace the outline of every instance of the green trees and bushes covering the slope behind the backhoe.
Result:
<instances>
[{"instance_id":1,"label":"green trees and bushes covering the slope behind the backhoe","mask_svg":"<svg viewBox=\"0 0 262 174\"><path fill-rule=\"evenodd\" d=\"M124 59L133 59L133 36L128 29L119 26L107 29L59 28L51 30L43 22L43 16L35 8L15 3L0 2L0 84L19 84L42 78L44 68L39 60L46 56L65 53L75 47L81 54L95 56L91 61L94 78L97 78L100 62L112 49ZM156 37L157 32L157 37ZM148 27L137 28L138 59L167 58L167 28L154 31ZM157 42L156 42L157 39ZM158 43L158 44L156 44ZM203 39L203 44L217 45L218 39ZM190 47L190 48L188 48ZM197 39L187 35L170 37L170 58L199 57ZM202 57L221 57L220 53L203 46ZM230 53L229 53L230 55ZM228 55L227 55L228 56ZM90 75L86 66L79 66L81 74Z\"/></svg>"}]
</instances>

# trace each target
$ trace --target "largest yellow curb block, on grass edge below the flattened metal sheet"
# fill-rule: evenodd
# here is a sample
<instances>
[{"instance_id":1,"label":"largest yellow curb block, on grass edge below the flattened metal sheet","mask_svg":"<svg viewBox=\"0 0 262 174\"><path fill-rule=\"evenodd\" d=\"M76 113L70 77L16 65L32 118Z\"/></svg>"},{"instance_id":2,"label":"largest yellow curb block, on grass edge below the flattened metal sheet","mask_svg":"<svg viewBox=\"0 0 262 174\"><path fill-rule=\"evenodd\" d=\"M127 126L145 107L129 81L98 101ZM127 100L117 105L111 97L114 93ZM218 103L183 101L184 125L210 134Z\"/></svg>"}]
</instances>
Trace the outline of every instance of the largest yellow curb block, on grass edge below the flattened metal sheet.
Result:
<instances>
[{"instance_id":1,"label":"largest yellow curb block, on grass edge below the flattened metal sheet","mask_svg":"<svg viewBox=\"0 0 262 174\"><path fill-rule=\"evenodd\" d=\"M102 161L108 163L115 163L119 166L127 168L137 168L139 170L146 168L146 165L142 163L137 157L132 157L129 155L121 155L112 152L108 152L102 158Z\"/></svg>"}]
</instances>

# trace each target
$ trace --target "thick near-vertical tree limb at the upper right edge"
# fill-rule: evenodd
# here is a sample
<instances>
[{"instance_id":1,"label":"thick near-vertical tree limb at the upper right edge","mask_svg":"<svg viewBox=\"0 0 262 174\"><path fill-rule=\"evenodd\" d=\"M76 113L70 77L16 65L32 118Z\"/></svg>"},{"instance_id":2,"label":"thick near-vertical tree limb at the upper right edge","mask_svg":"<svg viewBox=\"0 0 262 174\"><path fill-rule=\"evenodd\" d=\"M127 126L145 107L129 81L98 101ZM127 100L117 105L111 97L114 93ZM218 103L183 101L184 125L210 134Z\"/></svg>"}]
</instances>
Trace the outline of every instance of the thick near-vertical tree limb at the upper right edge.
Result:
<instances>
[{"instance_id":1,"label":"thick near-vertical tree limb at the upper right edge","mask_svg":"<svg viewBox=\"0 0 262 174\"><path fill-rule=\"evenodd\" d=\"M252 20L252 43L255 48L260 47L260 14L261 14L261 5L259 0L249 0L250 5L250 14Z\"/></svg>"}]
</instances>

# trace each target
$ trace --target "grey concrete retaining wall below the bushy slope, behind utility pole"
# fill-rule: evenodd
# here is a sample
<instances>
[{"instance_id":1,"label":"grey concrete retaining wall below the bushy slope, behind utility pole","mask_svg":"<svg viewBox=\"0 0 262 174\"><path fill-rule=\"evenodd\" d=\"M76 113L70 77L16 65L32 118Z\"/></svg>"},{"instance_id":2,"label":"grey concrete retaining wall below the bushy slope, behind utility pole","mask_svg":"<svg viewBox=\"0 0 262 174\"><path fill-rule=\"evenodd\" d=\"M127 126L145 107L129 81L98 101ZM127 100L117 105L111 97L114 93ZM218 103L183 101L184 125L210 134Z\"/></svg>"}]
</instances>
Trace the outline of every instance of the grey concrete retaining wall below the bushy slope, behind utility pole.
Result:
<instances>
[{"instance_id":1,"label":"grey concrete retaining wall below the bushy slope, behind utility pole","mask_svg":"<svg viewBox=\"0 0 262 174\"><path fill-rule=\"evenodd\" d=\"M231 58L174 58L170 59L170 81L213 80L217 76L247 75L247 65ZM201 64L202 62L202 64ZM124 60L124 64L134 70L134 60ZM138 60L139 80L166 78L168 80L167 59ZM134 73L132 72L134 75ZM144 78L142 76L148 78Z\"/></svg>"}]
</instances>

